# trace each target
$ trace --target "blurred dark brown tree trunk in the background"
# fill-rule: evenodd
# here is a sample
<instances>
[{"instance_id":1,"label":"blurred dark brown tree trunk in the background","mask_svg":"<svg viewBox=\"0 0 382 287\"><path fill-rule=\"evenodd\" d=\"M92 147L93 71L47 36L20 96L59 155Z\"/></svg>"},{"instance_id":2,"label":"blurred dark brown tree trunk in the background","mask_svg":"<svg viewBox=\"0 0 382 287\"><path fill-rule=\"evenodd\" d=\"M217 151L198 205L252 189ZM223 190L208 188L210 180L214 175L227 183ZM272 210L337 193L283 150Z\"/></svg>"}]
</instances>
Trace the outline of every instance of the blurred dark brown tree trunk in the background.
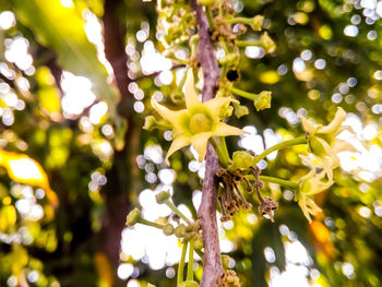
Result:
<instances>
[{"instance_id":1,"label":"blurred dark brown tree trunk in the background","mask_svg":"<svg viewBox=\"0 0 382 287\"><path fill-rule=\"evenodd\" d=\"M132 105L133 96L128 89L130 79L128 76L128 57L124 51L126 25L118 16L118 9L123 4L121 0L106 0L104 4L105 14L104 23L104 41L105 55L110 62L115 82L121 95L119 106L127 107ZM121 104L124 105L121 105ZM127 107L129 109L129 107ZM123 108L122 108L123 109ZM128 122L128 131L126 133L126 144L122 151L116 151L115 160L111 169L107 172L108 183L103 189L105 196L106 213L103 220L103 227L99 231L100 249L108 256L117 279L117 266L119 264L119 252L121 231L126 226L126 215L130 210L130 189L131 183L131 160L132 160L132 144L131 139L134 133L133 116L131 112L124 112L122 116ZM121 282L116 280L114 286L121 285Z\"/></svg>"}]
</instances>

